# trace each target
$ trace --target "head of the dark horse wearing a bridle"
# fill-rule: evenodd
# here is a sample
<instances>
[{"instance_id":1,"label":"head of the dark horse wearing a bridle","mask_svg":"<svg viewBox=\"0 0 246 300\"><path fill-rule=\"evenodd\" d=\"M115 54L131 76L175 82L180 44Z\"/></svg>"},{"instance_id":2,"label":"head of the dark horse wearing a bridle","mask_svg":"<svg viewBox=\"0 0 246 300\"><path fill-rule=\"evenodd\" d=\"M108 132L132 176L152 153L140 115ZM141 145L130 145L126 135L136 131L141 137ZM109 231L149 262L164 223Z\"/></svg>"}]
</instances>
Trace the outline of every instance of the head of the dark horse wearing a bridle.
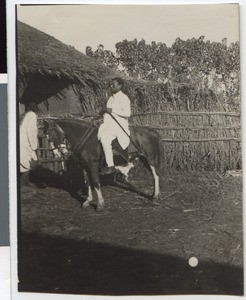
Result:
<instances>
[{"instance_id":1,"label":"head of the dark horse wearing a bridle","mask_svg":"<svg viewBox=\"0 0 246 300\"><path fill-rule=\"evenodd\" d=\"M62 156L67 157L70 146L62 128L53 120L43 121L43 126L44 134L46 135L55 156L59 158Z\"/></svg>"}]
</instances>

